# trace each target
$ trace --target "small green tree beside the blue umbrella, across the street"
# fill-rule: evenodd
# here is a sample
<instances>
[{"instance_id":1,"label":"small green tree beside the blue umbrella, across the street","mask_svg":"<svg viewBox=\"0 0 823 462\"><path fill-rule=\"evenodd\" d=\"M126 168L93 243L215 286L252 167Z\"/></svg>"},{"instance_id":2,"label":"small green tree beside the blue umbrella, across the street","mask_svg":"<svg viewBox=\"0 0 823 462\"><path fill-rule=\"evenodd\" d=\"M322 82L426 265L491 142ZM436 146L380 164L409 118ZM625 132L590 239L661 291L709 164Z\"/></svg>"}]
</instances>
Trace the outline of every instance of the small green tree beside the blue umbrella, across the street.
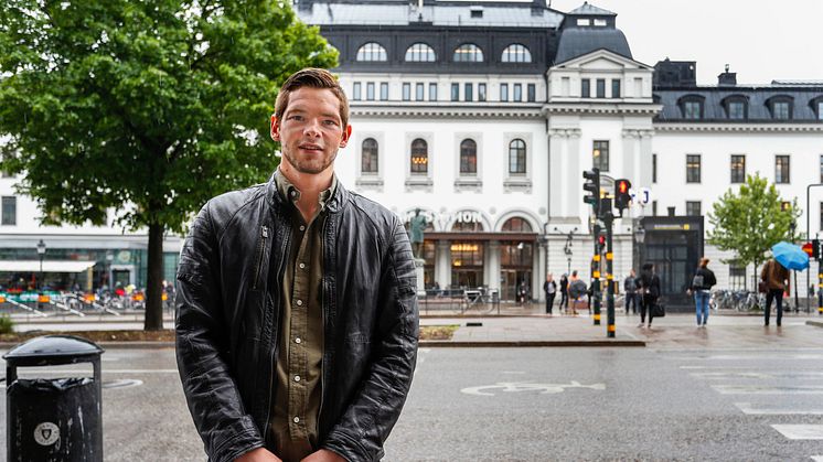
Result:
<instances>
[{"instance_id":1,"label":"small green tree beside the blue umbrella, across the street","mask_svg":"<svg viewBox=\"0 0 823 462\"><path fill-rule=\"evenodd\" d=\"M755 268L765 260L766 251L781 240L794 240L794 224L800 216L797 197L789 207L774 184L759 174L747 175L738 192L733 189L713 205L708 223L708 243L720 250L731 250L742 265Z\"/></svg>"}]
</instances>

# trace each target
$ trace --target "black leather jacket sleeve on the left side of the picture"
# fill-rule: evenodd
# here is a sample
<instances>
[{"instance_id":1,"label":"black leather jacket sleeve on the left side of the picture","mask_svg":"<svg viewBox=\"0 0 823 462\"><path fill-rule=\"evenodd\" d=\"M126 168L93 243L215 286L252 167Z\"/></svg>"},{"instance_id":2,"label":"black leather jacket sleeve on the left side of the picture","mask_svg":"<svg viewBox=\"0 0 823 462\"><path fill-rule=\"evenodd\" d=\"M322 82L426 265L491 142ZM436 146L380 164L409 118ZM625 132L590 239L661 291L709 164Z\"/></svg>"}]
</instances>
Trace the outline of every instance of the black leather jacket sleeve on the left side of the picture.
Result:
<instances>
[{"instance_id":1,"label":"black leather jacket sleeve on the left side of the picture","mask_svg":"<svg viewBox=\"0 0 823 462\"><path fill-rule=\"evenodd\" d=\"M228 332L221 314L217 240L206 204L180 253L175 346L183 393L205 452L210 460L224 462L264 441L225 359Z\"/></svg>"}]
</instances>

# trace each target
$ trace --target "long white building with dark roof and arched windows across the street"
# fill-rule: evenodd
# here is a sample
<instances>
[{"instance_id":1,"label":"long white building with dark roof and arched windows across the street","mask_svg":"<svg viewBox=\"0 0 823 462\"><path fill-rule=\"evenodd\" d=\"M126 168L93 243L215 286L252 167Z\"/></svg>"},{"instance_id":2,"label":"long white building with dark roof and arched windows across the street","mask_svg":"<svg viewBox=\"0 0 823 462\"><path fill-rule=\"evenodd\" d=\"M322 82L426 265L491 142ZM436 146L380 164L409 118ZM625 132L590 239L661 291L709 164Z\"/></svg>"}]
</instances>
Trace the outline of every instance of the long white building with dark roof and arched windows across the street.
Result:
<instances>
[{"instance_id":1,"label":"long white building with dark roof and arched windows across the street","mask_svg":"<svg viewBox=\"0 0 823 462\"><path fill-rule=\"evenodd\" d=\"M588 3L560 12L541 0L300 0L295 9L340 52L353 135L339 178L404 219L426 217L428 288L484 286L503 300L526 288L537 300L547 272L588 279L581 172L592 166L606 191L629 179L643 192L616 221L616 279L642 256L659 262L672 296L697 254L713 259L718 287L751 287L756 269L722 262L733 256L703 238L712 204L746 174L798 198L800 230L806 219L812 236L823 229L823 189L810 190L805 207L806 186L823 183L823 82L739 85L727 69L717 85L697 85L695 62L635 61L617 14ZM93 284L125 269L141 280L145 233L39 227L13 182L0 179L0 259L30 259L47 238L50 251L96 262L86 270ZM684 254L666 233L699 248ZM167 273L179 246L167 239Z\"/></svg>"}]
</instances>

